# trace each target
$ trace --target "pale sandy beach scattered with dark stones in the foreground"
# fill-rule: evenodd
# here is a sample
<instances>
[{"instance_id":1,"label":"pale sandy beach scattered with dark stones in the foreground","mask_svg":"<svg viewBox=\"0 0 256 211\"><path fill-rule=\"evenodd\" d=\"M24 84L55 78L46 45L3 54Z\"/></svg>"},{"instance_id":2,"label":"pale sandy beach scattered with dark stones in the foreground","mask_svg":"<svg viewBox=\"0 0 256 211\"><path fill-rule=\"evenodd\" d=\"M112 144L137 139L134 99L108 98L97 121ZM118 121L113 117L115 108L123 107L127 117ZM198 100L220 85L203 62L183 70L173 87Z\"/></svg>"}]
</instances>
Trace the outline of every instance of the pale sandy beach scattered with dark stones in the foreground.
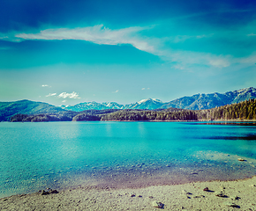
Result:
<instances>
[{"instance_id":1,"label":"pale sandy beach scattered with dark stones in the foreground","mask_svg":"<svg viewBox=\"0 0 256 211\"><path fill-rule=\"evenodd\" d=\"M256 177L138 189L79 186L59 193L42 195L39 192L0 199L0 210L162 209L256 210Z\"/></svg>"}]
</instances>

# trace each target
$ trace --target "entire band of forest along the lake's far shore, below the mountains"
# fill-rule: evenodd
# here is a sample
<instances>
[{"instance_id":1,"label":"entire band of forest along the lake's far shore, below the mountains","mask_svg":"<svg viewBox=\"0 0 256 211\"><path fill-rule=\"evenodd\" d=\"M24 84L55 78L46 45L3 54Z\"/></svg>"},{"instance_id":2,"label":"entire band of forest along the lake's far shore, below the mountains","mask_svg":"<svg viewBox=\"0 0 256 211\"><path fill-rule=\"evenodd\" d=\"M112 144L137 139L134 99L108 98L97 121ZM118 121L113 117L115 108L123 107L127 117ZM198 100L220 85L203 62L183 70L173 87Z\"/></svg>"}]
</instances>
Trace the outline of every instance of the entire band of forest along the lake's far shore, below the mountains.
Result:
<instances>
[{"instance_id":1,"label":"entire band of forest along the lake's far shore, below the mountains","mask_svg":"<svg viewBox=\"0 0 256 211\"><path fill-rule=\"evenodd\" d=\"M11 121L168 121L168 120L256 120L256 99L206 110L89 110L81 113L16 114Z\"/></svg>"}]
</instances>

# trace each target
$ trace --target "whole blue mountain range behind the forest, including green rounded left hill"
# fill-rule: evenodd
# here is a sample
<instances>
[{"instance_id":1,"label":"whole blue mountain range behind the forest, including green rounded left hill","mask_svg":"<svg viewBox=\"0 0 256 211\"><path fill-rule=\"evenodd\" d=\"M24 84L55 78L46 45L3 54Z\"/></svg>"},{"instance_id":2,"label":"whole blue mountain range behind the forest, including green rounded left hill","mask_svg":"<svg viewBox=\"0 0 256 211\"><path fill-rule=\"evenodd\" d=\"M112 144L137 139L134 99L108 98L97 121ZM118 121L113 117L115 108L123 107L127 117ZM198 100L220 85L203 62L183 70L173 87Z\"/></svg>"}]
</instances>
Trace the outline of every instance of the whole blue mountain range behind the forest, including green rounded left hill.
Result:
<instances>
[{"instance_id":1,"label":"whole blue mountain range behind the forest, including green rounded left hill","mask_svg":"<svg viewBox=\"0 0 256 211\"><path fill-rule=\"evenodd\" d=\"M170 107L201 110L210 109L216 106L225 106L239 103L250 98L256 98L256 89L253 87L245 88L237 91L228 91L225 93L196 94L191 97L177 98L167 103L159 99L148 98L139 102L121 105L116 102L96 103L86 102L75 106L52 106L47 103L34 102L23 99L12 102L0 102L0 120L10 120L11 116L22 114L39 114L39 113L57 113L58 115L68 116L70 119L79 112L86 113L110 113L116 109L167 109ZM108 110L108 111L96 111Z\"/></svg>"}]
</instances>

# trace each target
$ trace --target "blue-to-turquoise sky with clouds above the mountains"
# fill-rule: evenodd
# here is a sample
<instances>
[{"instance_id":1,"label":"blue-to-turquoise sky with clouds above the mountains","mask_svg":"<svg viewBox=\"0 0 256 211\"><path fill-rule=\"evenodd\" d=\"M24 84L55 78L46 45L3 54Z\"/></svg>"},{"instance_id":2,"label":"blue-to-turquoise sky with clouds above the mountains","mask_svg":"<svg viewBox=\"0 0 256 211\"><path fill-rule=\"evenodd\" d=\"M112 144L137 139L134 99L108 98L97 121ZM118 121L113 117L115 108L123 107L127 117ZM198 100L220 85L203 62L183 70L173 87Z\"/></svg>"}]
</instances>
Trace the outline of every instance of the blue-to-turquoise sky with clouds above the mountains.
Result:
<instances>
[{"instance_id":1,"label":"blue-to-turquoise sky with clouds above the mountains","mask_svg":"<svg viewBox=\"0 0 256 211\"><path fill-rule=\"evenodd\" d=\"M169 102L256 87L256 1L1 0L0 101Z\"/></svg>"}]
</instances>

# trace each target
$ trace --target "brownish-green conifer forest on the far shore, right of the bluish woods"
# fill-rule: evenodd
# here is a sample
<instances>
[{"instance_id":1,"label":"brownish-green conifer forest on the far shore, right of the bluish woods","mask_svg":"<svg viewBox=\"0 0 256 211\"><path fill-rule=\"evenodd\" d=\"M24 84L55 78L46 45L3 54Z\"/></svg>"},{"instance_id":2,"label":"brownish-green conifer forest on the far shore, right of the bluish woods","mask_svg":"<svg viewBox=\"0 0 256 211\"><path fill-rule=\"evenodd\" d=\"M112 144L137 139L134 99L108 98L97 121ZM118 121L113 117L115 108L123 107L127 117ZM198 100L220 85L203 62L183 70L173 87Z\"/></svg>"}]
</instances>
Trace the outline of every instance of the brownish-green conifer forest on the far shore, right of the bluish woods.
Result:
<instances>
[{"instance_id":1,"label":"brownish-green conifer forest on the far shore, right of the bluish woods","mask_svg":"<svg viewBox=\"0 0 256 211\"><path fill-rule=\"evenodd\" d=\"M121 110L102 116L102 120L256 120L256 100L207 110Z\"/></svg>"}]
</instances>

